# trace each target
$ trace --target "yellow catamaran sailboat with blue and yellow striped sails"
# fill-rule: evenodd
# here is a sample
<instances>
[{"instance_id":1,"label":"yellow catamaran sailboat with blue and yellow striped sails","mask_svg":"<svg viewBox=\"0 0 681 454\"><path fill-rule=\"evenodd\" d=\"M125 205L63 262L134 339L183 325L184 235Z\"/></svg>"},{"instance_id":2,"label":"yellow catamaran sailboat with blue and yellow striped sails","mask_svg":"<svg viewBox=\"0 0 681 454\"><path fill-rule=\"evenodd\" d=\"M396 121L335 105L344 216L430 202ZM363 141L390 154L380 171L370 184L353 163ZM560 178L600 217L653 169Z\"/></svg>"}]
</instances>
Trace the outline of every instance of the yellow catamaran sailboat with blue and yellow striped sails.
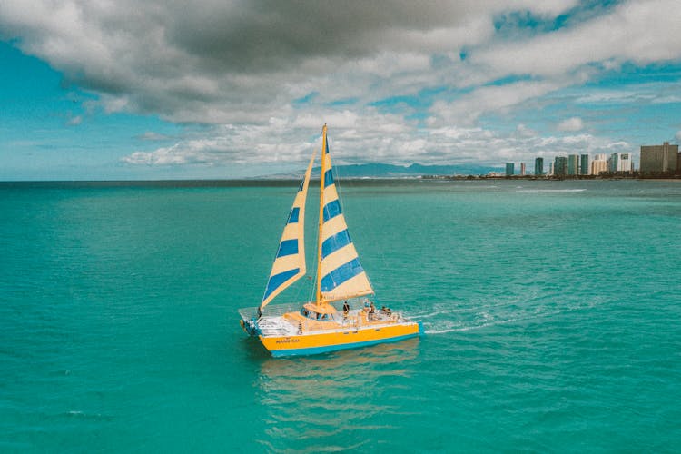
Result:
<instances>
[{"instance_id":1,"label":"yellow catamaran sailboat with blue and yellow striped sails","mask_svg":"<svg viewBox=\"0 0 681 454\"><path fill-rule=\"evenodd\" d=\"M422 331L400 311L377 309L374 291L361 266L334 180L327 140L321 131L321 190L314 298L294 304L270 302L306 274L305 201L312 153L293 200L270 277L258 307L240 309L244 331L257 337L274 357L353 349L413 338Z\"/></svg>"}]
</instances>

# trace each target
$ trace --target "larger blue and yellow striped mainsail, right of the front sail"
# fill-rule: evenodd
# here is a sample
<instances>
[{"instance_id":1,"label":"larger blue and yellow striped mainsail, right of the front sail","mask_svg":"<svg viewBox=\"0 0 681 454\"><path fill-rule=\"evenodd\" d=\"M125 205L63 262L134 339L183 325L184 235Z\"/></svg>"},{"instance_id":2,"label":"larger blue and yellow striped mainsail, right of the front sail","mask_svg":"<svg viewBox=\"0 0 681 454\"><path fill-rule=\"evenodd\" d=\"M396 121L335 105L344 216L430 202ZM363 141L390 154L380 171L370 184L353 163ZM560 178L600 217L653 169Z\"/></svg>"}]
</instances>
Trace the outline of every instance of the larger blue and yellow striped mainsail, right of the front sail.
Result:
<instances>
[{"instance_id":1,"label":"larger blue and yellow striped mainsail, right of the front sail","mask_svg":"<svg viewBox=\"0 0 681 454\"><path fill-rule=\"evenodd\" d=\"M322 192L317 300L338 301L368 295L373 293L373 289L361 266L341 212L341 202L333 179L326 125L322 131L321 146Z\"/></svg>"}]
</instances>

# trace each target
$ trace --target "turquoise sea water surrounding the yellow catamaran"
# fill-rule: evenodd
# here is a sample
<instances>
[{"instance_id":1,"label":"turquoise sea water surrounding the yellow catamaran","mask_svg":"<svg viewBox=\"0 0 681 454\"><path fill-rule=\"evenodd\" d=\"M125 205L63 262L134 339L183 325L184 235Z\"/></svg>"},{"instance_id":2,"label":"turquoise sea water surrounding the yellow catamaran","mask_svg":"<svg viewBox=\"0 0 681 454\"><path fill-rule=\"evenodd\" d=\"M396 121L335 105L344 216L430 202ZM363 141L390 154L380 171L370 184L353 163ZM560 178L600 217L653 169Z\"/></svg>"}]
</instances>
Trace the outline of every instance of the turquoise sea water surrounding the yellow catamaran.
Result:
<instances>
[{"instance_id":1,"label":"turquoise sea water surrounding the yellow catamaran","mask_svg":"<svg viewBox=\"0 0 681 454\"><path fill-rule=\"evenodd\" d=\"M0 185L0 451L681 450L681 183L341 184L427 335L279 360L297 183Z\"/></svg>"}]
</instances>

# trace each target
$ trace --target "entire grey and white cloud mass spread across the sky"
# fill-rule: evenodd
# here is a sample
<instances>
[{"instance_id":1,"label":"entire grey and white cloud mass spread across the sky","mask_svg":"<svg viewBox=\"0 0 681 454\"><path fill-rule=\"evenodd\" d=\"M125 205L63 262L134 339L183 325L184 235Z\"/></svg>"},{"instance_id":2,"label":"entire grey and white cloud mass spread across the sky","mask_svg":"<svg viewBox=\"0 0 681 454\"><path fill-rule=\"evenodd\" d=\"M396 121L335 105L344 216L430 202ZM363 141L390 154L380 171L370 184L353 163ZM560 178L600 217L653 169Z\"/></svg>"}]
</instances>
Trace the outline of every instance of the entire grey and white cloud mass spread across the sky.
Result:
<instances>
[{"instance_id":1,"label":"entire grey and white cloud mass spread across the sky","mask_svg":"<svg viewBox=\"0 0 681 454\"><path fill-rule=\"evenodd\" d=\"M123 157L131 165L305 163L323 123L355 162L529 160L622 142L581 133L585 104L678 102L677 84L573 95L573 111L552 116L568 118L564 137L542 132L537 114L518 118L623 64L681 60L676 0L2 3L0 35L96 94L88 115L185 125L182 137L144 133L149 148Z\"/></svg>"}]
</instances>

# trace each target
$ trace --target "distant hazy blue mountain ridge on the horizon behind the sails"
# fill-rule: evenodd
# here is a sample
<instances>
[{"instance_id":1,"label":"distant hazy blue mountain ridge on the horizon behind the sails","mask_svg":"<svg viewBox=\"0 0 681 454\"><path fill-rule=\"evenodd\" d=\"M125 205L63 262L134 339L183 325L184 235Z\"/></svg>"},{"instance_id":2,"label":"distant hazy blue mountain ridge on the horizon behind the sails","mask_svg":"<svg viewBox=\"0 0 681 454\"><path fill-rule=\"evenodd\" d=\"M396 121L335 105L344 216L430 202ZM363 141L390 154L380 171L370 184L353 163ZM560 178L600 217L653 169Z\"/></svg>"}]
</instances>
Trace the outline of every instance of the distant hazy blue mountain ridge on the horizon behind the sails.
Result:
<instances>
[{"instance_id":1,"label":"distant hazy blue mountain ridge on the horizon behind the sails","mask_svg":"<svg viewBox=\"0 0 681 454\"><path fill-rule=\"evenodd\" d=\"M402 178L421 175L485 175L489 172L499 172L501 167L489 167L478 164L457 165L423 165L413 163L407 165L395 165L386 163L366 163L334 165L334 170L340 178ZM271 175L269 178L293 178L303 173ZM312 174L319 174L320 167L315 167Z\"/></svg>"}]
</instances>

